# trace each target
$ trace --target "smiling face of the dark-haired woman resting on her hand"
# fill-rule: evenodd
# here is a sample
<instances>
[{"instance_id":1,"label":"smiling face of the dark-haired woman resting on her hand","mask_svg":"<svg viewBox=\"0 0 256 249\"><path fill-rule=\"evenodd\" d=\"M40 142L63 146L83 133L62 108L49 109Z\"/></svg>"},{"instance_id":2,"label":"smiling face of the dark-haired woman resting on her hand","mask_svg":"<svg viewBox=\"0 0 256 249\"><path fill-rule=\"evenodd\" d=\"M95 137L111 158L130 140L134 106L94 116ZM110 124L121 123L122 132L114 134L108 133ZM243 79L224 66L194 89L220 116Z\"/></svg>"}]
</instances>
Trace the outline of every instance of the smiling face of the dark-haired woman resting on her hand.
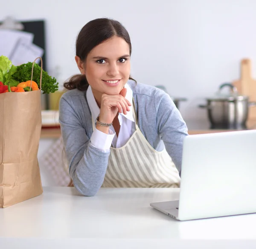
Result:
<instances>
[{"instance_id":1,"label":"smiling face of the dark-haired woman resting on her hand","mask_svg":"<svg viewBox=\"0 0 256 249\"><path fill-rule=\"evenodd\" d=\"M101 100L102 93L119 94L130 76L128 43L113 37L99 44L88 54L83 69L96 100Z\"/></svg>"}]
</instances>

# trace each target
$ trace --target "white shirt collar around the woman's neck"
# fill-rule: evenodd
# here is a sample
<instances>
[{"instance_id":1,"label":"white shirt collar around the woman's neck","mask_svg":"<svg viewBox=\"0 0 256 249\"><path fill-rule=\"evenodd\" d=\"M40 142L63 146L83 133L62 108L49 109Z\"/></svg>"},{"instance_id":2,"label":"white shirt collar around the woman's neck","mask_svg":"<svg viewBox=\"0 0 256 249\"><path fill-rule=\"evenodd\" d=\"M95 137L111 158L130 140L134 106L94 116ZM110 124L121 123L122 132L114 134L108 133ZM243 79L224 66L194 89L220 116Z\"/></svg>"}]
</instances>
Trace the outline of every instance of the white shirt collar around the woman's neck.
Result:
<instances>
[{"instance_id":1,"label":"white shirt collar around the woman's neck","mask_svg":"<svg viewBox=\"0 0 256 249\"><path fill-rule=\"evenodd\" d=\"M130 108L130 111L127 112L127 114L123 114L123 113L119 113L121 114L123 117L126 117L127 119L134 121L134 117L133 117L133 92L131 90L131 87L128 85L128 83L125 84L125 88L127 89L127 93L126 93L126 96L125 98L131 103L131 106L129 106ZM92 88L91 86L88 87L87 91L86 91L86 97L87 97L87 102L88 102L88 105L89 105L89 108L90 108L90 112L92 114L92 119L93 121L96 120L96 117L99 116L99 106L97 105L97 102L93 96L93 92L92 92Z\"/></svg>"}]
</instances>

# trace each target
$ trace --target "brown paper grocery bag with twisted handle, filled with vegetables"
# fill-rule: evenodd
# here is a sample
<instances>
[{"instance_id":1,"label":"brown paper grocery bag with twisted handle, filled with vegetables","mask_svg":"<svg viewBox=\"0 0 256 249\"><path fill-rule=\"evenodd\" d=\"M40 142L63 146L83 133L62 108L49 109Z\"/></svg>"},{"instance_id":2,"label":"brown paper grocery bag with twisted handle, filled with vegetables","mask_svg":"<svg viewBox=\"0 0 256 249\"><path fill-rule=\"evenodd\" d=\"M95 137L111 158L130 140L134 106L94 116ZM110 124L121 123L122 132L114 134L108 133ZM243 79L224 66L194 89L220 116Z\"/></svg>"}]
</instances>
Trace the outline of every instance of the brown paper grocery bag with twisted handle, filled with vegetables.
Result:
<instances>
[{"instance_id":1,"label":"brown paper grocery bag with twisted handle, filled with vegetables","mask_svg":"<svg viewBox=\"0 0 256 249\"><path fill-rule=\"evenodd\" d=\"M41 90L0 94L1 208L43 192L37 158L41 123Z\"/></svg>"}]
</instances>

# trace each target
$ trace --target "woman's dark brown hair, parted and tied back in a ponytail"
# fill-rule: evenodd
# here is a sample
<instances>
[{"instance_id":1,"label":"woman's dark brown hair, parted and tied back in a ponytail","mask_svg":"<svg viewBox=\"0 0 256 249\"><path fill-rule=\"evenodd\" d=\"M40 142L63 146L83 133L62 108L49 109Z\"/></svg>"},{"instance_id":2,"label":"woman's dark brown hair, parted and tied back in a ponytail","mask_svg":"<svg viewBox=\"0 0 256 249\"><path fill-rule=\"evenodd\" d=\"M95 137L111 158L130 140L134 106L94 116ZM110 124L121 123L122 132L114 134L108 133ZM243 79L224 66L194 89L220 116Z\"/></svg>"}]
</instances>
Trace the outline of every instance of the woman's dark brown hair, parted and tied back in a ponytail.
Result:
<instances>
[{"instance_id":1,"label":"woman's dark brown hair, parted and tied back in a ponytail","mask_svg":"<svg viewBox=\"0 0 256 249\"><path fill-rule=\"evenodd\" d=\"M76 38L76 55L85 61L94 47L113 36L121 37L128 43L131 55L131 40L128 31L118 21L108 18L91 20L84 25ZM131 77L129 79L134 80ZM68 82L64 83L64 87L68 90L76 88L87 90L88 86L89 83L83 74L73 75Z\"/></svg>"}]
</instances>

